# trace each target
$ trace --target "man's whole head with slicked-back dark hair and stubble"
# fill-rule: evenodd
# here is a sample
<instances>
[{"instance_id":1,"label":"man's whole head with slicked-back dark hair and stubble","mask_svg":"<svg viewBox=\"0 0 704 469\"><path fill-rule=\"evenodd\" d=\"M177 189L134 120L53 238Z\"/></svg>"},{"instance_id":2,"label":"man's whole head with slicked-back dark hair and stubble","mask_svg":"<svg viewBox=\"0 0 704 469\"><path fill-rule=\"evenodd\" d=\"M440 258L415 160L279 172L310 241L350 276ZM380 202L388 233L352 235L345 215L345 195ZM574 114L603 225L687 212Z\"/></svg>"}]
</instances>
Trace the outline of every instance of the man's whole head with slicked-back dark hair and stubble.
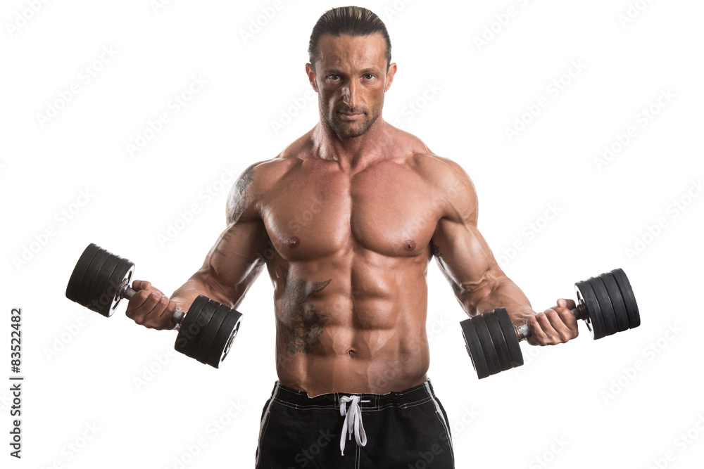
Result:
<instances>
[{"instance_id":1,"label":"man's whole head with slicked-back dark hair and stubble","mask_svg":"<svg viewBox=\"0 0 704 469\"><path fill-rule=\"evenodd\" d=\"M313 27L308 53L321 122L342 138L365 134L382 114L396 73L382 20L358 6L327 11Z\"/></svg>"}]
</instances>

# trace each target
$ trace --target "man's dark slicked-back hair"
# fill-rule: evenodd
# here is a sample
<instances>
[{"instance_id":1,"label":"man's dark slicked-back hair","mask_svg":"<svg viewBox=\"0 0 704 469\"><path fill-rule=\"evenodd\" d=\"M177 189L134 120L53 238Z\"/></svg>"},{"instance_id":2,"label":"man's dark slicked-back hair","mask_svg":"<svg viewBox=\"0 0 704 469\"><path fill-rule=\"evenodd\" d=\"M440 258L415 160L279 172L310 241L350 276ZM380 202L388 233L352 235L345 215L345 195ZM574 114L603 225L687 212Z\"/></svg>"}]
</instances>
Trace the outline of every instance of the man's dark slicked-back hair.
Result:
<instances>
[{"instance_id":1,"label":"man's dark slicked-back hair","mask_svg":"<svg viewBox=\"0 0 704 469\"><path fill-rule=\"evenodd\" d=\"M315 62L320 59L318 42L323 34L332 34L340 37L346 34L351 37L367 36L375 32L382 33L386 41L386 70L391 65L391 39L386 31L384 22L371 10L360 6L340 6L326 11L313 26L308 42L308 56L310 64L315 68Z\"/></svg>"}]
</instances>

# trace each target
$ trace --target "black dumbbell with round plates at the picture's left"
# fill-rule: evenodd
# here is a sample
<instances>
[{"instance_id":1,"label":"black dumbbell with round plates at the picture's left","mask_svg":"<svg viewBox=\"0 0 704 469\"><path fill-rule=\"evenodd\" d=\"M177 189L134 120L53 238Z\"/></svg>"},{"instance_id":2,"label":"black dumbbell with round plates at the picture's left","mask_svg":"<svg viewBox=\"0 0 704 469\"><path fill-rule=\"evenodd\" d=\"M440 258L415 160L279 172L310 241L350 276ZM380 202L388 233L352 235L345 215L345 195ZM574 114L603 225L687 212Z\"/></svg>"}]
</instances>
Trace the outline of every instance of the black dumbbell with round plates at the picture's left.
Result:
<instances>
[{"instance_id":1,"label":"black dumbbell with round plates at the picture's left","mask_svg":"<svg viewBox=\"0 0 704 469\"><path fill-rule=\"evenodd\" d=\"M112 316L122 298L135 293L130 287L134 264L90 244L73 269L66 297L103 316ZM219 368L239 330L241 313L208 299L194 300L187 313L176 309L172 317L178 335L174 348L203 364Z\"/></svg>"}]
</instances>

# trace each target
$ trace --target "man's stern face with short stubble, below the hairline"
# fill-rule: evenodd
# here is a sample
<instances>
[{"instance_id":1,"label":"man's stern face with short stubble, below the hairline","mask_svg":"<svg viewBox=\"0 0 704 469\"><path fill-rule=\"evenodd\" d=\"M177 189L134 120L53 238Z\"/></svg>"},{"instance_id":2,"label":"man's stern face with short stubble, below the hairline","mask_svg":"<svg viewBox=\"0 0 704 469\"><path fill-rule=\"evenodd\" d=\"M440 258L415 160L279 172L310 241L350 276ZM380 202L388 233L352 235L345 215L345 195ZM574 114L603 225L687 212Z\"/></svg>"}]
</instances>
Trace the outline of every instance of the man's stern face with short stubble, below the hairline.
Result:
<instances>
[{"instance_id":1,"label":"man's stern face with short stubble, below the hairline","mask_svg":"<svg viewBox=\"0 0 704 469\"><path fill-rule=\"evenodd\" d=\"M350 37L323 34L320 59L306 65L318 93L320 118L341 138L363 135L382 115L384 93L396 73L386 71L386 41L381 33Z\"/></svg>"}]
</instances>

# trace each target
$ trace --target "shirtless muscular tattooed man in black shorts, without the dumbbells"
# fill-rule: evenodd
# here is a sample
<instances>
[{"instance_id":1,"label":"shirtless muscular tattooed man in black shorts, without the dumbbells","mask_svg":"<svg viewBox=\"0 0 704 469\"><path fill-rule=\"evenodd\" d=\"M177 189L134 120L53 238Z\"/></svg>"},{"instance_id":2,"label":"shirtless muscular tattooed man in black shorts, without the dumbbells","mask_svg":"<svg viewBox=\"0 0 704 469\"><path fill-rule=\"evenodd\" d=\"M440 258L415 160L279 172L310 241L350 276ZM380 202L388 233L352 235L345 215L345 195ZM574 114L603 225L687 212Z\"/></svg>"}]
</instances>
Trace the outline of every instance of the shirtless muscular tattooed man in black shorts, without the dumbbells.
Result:
<instances>
[{"instance_id":1,"label":"shirtless muscular tattooed man in black shorts, without the dumbbells","mask_svg":"<svg viewBox=\"0 0 704 469\"><path fill-rule=\"evenodd\" d=\"M528 322L534 345L577 336L574 303L536 314L477 231L465 171L384 121L396 64L377 15L328 11L309 53L320 122L241 174L201 269L170 300L135 281L127 315L163 329L201 294L237 307L266 266L279 379L256 467L405 468L430 453L432 467L451 468L447 418L426 375L432 257L467 314L503 306L515 324ZM320 453L302 456L315 442Z\"/></svg>"}]
</instances>

